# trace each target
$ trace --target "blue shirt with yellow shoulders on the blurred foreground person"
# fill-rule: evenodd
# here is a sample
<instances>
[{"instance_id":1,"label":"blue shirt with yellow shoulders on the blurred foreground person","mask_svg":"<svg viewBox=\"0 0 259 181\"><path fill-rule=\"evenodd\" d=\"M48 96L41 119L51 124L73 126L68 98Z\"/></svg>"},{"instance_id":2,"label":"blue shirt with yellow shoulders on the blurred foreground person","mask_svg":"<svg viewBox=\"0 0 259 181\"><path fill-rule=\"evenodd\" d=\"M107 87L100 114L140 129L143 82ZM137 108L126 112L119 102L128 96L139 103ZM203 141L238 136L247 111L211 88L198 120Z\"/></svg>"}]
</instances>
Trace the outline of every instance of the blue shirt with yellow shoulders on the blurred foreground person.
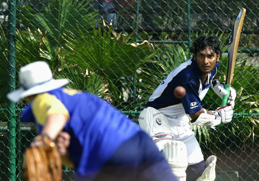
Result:
<instances>
[{"instance_id":1,"label":"blue shirt with yellow shoulders on the blurred foreground person","mask_svg":"<svg viewBox=\"0 0 259 181\"><path fill-rule=\"evenodd\" d=\"M22 121L34 121L40 133L46 116L55 113L68 118L64 131L71 136L68 150L77 176L94 177L114 151L140 131L108 102L65 88L38 94L24 109Z\"/></svg>"}]
</instances>

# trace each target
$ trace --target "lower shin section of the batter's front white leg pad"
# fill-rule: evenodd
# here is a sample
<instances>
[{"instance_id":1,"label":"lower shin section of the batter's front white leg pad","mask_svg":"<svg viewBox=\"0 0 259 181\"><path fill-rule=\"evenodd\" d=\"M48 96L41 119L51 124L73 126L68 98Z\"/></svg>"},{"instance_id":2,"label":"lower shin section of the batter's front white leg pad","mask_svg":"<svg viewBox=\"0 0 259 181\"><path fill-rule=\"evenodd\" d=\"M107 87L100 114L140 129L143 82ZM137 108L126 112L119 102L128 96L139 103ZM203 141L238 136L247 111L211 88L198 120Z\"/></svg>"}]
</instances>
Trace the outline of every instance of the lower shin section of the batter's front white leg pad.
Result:
<instances>
[{"instance_id":1,"label":"lower shin section of the batter's front white leg pad","mask_svg":"<svg viewBox=\"0 0 259 181\"><path fill-rule=\"evenodd\" d=\"M164 145L162 153L179 181L186 181L185 170L188 166L186 145L182 141L170 141Z\"/></svg>"}]
</instances>

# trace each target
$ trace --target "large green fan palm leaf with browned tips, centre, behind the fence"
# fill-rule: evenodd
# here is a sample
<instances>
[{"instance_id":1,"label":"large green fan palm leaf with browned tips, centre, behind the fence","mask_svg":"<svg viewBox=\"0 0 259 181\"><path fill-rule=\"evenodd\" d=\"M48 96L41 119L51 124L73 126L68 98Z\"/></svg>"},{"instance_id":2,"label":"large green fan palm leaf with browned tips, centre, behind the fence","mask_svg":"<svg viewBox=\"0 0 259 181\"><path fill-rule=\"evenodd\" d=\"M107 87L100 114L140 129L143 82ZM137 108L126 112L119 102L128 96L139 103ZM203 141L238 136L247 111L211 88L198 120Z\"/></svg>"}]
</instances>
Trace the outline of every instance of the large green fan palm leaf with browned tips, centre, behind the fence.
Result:
<instances>
[{"instance_id":1,"label":"large green fan palm leaf with browned tips, centre, behind the fence","mask_svg":"<svg viewBox=\"0 0 259 181\"><path fill-rule=\"evenodd\" d=\"M110 94L106 99L122 108L123 90L128 89L125 84L132 84L131 77L137 67L150 62L149 59L158 56L161 50L147 41L135 43L134 32L117 34L111 26L104 23L104 27L107 30L102 30L99 25L91 34L81 33L77 39L73 38L73 34L68 35L66 52L69 59L66 61L103 77Z\"/></svg>"}]
</instances>

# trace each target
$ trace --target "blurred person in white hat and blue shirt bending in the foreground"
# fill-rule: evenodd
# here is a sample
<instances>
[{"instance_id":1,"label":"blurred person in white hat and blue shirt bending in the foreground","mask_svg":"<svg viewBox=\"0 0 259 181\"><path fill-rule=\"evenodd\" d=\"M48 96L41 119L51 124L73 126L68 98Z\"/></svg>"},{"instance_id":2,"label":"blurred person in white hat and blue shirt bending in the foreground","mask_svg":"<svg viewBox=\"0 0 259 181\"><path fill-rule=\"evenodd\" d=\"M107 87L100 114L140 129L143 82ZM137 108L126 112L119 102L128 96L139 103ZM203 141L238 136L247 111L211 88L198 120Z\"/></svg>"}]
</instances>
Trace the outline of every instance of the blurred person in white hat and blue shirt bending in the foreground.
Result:
<instances>
[{"instance_id":1,"label":"blurred person in white hat and blue shirt bending in the foreground","mask_svg":"<svg viewBox=\"0 0 259 181\"><path fill-rule=\"evenodd\" d=\"M20 89L7 97L28 102L22 122L35 122L39 135L56 141L65 166L77 180L176 181L164 156L137 124L108 102L64 88L43 61L20 69ZM34 139L31 147L43 145Z\"/></svg>"}]
</instances>

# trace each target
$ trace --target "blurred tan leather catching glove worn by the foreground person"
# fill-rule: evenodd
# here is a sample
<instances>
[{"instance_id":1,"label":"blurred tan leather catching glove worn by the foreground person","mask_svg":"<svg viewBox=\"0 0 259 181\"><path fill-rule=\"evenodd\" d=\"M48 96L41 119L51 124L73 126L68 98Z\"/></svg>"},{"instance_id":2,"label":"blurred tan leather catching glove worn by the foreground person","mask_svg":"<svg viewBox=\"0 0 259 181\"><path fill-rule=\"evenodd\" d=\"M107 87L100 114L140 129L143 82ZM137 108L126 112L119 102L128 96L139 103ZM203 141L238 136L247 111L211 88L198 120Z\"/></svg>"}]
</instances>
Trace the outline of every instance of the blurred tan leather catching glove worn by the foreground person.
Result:
<instances>
[{"instance_id":1,"label":"blurred tan leather catching glove worn by the foreground person","mask_svg":"<svg viewBox=\"0 0 259 181\"><path fill-rule=\"evenodd\" d=\"M26 148L22 161L23 180L60 180L62 160L48 135L38 135Z\"/></svg>"}]
</instances>

